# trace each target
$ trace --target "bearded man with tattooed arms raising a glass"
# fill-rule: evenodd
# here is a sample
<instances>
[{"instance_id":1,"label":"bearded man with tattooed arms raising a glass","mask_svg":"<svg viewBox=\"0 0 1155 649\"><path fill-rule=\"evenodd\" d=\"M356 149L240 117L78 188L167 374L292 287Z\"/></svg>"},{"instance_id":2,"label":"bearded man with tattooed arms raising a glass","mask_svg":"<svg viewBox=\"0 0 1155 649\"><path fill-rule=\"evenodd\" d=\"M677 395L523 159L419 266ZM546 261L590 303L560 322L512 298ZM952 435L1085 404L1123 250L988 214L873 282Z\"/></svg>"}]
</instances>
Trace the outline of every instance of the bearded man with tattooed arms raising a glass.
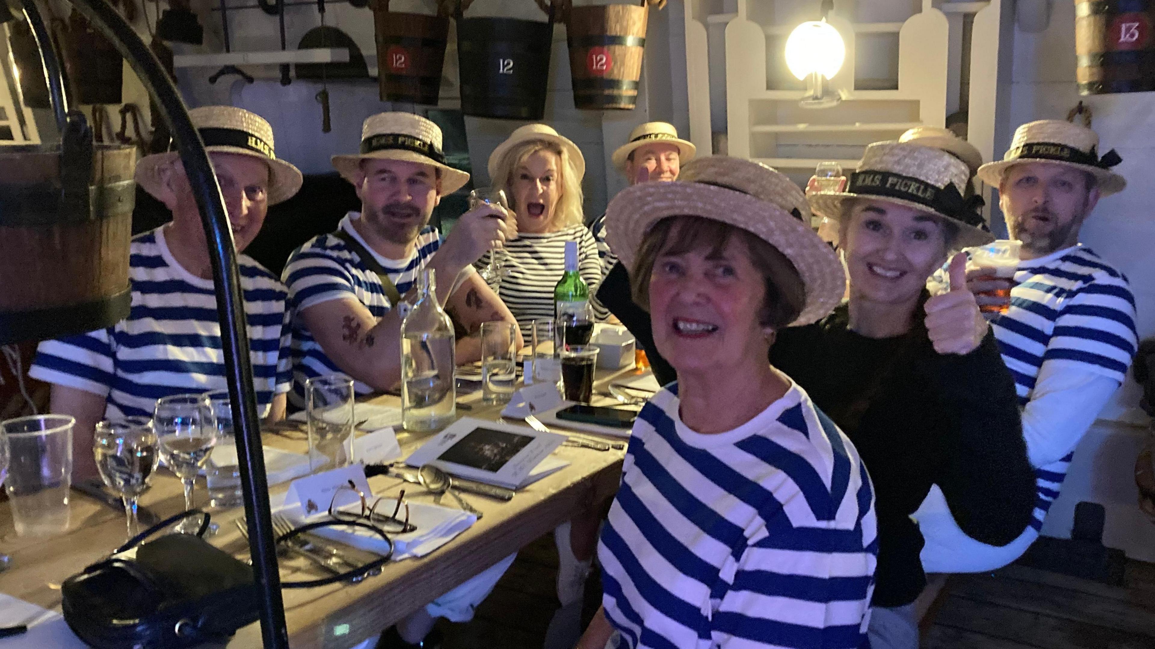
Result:
<instances>
[{"instance_id":1,"label":"bearded man with tattooed arms raising a glass","mask_svg":"<svg viewBox=\"0 0 1155 649\"><path fill-rule=\"evenodd\" d=\"M435 124L404 112L372 115L362 129L360 152L334 156L333 166L357 189L362 211L293 251L282 276L292 308L289 401L298 409L305 408L305 381L313 376L344 372L357 381L358 394L396 386L404 308L394 306L426 268L437 270L439 299L469 334L486 321L516 324L471 266L514 234L512 215L491 206L468 211L444 241L429 226L441 196L469 180L445 164ZM477 336L457 342L459 364L479 358Z\"/></svg>"}]
</instances>

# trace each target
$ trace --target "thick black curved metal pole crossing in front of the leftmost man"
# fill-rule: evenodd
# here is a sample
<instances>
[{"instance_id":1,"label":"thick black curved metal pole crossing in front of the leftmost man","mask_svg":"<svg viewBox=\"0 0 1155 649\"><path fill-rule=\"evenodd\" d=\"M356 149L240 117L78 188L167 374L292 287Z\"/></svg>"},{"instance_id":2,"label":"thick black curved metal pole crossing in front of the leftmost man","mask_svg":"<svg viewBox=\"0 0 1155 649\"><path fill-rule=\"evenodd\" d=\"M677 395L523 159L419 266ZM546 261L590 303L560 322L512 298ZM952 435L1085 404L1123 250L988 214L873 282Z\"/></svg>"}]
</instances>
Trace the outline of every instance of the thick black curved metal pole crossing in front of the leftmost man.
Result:
<instances>
[{"instance_id":1,"label":"thick black curved metal pole crossing in front of the leftmost man","mask_svg":"<svg viewBox=\"0 0 1155 649\"><path fill-rule=\"evenodd\" d=\"M33 0L24 0L25 3ZM245 324L244 299L237 273L237 253L221 187L204 150L200 134L188 118L188 110L172 80L161 67L156 54L133 28L105 0L69 0L94 25L117 46L136 70L161 109L180 151L188 182L196 199L209 246L213 279L216 283L217 318L224 348L229 398L232 402L233 431L240 480L245 492L245 516L248 520L249 550L253 572L261 588L261 635L266 648L288 649L284 604L281 599L281 576L277 573L273 520L269 513L269 490L261 449L260 419L253 390L253 367L248 353L248 329Z\"/></svg>"}]
</instances>

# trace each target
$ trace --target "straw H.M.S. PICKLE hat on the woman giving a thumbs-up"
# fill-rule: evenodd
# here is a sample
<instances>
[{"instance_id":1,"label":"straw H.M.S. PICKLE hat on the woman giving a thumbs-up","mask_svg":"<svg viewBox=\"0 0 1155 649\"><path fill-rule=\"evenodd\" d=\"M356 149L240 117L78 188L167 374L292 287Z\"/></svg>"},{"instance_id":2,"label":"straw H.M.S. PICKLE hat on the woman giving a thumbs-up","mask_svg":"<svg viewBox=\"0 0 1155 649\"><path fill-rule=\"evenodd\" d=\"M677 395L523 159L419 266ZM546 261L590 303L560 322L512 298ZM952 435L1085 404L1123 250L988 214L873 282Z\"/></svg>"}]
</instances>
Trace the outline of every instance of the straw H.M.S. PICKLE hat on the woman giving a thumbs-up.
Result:
<instances>
[{"instance_id":1,"label":"straw H.M.S. PICKLE hat on the woman giving a thumbs-up","mask_svg":"<svg viewBox=\"0 0 1155 649\"><path fill-rule=\"evenodd\" d=\"M969 181L967 163L941 149L908 142L874 142L866 147L858 170L850 174L845 192L822 192L806 199L815 214L835 219L842 218L845 199L908 206L957 225L956 247L981 246L994 237L978 214L978 199L962 197Z\"/></svg>"}]
</instances>

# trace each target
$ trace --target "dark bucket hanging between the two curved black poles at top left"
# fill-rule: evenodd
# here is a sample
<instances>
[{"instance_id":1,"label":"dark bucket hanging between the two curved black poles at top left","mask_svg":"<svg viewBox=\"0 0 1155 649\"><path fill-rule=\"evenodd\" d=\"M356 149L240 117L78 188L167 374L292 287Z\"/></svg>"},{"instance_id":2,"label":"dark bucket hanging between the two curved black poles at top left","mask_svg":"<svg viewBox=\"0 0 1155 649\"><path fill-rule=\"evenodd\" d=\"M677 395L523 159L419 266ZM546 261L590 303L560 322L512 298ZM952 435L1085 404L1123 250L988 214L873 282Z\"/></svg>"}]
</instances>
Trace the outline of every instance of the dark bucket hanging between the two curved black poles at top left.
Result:
<instances>
[{"instance_id":1,"label":"dark bucket hanging between the two curved black poles at top left","mask_svg":"<svg viewBox=\"0 0 1155 649\"><path fill-rule=\"evenodd\" d=\"M117 47L75 9L60 31L65 72L79 104L119 104L125 61Z\"/></svg>"}]
</instances>

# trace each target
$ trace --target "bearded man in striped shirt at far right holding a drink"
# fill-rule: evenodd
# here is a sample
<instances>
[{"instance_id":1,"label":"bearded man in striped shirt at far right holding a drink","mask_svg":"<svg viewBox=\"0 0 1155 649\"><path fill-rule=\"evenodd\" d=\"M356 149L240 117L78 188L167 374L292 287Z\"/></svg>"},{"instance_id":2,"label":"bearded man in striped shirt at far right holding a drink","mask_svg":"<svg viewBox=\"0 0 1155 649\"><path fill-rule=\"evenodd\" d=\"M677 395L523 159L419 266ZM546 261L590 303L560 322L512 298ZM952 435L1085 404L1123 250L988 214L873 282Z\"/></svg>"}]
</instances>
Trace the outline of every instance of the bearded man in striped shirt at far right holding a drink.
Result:
<instances>
[{"instance_id":1,"label":"bearded man in striped shirt at far right holding a drink","mask_svg":"<svg viewBox=\"0 0 1155 649\"><path fill-rule=\"evenodd\" d=\"M1001 309L991 327L1015 379L1038 498L1019 539L993 547L963 535L941 492L936 498L932 491L915 514L929 573L985 572L1027 550L1059 495L1075 447L1135 353L1135 300L1127 278L1079 243L1079 229L1098 199L1126 187L1111 171L1119 156L1112 150L1100 157L1097 147L1098 135L1089 128L1033 121L1015 130L1003 161L978 170L984 182L999 188L1011 238L1022 247L1011 279L971 268L968 288L979 305Z\"/></svg>"}]
</instances>

